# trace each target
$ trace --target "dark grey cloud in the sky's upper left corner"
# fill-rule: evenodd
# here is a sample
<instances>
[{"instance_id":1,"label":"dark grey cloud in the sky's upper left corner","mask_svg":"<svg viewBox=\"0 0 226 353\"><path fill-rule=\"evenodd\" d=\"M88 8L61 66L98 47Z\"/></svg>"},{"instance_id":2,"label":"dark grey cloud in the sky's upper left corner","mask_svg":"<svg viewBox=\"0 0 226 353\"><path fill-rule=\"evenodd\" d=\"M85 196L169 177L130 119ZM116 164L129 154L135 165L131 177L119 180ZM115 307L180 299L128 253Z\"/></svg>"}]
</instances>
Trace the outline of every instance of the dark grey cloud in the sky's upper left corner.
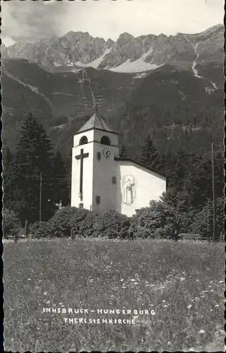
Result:
<instances>
[{"instance_id":1,"label":"dark grey cloud in the sky's upper left corner","mask_svg":"<svg viewBox=\"0 0 226 353\"><path fill-rule=\"evenodd\" d=\"M63 1L62 1L63 2ZM65 7L58 1L1 1L2 36L33 41L58 34Z\"/></svg>"}]
</instances>

